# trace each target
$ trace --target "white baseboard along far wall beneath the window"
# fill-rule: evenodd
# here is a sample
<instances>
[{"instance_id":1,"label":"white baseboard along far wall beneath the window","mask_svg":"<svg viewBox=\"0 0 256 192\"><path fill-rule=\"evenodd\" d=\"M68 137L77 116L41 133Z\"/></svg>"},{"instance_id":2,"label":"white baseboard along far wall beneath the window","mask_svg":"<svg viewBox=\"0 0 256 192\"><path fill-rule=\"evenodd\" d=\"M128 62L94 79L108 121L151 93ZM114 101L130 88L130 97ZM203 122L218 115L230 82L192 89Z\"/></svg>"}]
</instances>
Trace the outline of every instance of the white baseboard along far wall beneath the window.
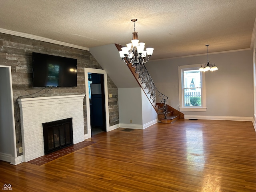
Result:
<instances>
[{"instance_id":1,"label":"white baseboard along far wall beneath the window","mask_svg":"<svg viewBox=\"0 0 256 192\"><path fill-rule=\"evenodd\" d=\"M252 117L229 117L229 116L200 116L184 115L185 119L229 120L229 121L252 121Z\"/></svg>"}]
</instances>

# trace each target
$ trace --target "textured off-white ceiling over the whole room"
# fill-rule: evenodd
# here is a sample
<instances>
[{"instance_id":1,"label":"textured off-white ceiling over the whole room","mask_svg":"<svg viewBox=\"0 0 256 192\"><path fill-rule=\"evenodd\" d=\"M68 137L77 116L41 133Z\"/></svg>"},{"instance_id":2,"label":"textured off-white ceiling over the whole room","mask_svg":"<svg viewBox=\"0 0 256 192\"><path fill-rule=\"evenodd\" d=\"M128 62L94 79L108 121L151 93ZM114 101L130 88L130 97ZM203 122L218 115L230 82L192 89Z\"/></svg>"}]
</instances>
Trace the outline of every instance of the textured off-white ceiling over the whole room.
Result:
<instances>
[{"instance_id":1,"label":"textured off-white ceiling over the whole room","mask_svg":"<svg viewBox=\"0 0 256 192\"><path fill-rule=\"evenodd\" d=\"M0 32L32 34L86 48L132 39L152 60L252 48L256 0L0 0Z\"/></svg>"}]
</instances>

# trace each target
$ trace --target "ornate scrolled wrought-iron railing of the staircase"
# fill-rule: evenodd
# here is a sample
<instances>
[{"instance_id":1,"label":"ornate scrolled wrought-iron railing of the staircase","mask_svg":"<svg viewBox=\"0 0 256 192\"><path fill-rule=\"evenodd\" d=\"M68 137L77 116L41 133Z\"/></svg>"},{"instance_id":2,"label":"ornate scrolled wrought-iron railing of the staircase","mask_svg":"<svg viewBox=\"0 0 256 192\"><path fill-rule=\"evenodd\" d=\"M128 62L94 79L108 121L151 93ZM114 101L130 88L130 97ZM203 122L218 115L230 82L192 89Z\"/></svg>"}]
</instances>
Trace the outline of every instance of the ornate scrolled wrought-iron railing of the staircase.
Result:
<instances>
[{"instance_id":1,"label":"ornate scrolled wrought-iron railing of the staircase","mask_svg":"<svg viewBox=\"0 0 256 192\"><path fill-rule=\"evenodd\" d=\"M164 118L166 119L166 115L168 113L168 107L166 106L166 100L168 97L164 94L162 94L155 86L150 74L148 73L148 70L146 69L146 66L143 62L139 62L136 65L133 65L135 68L135 72L139 75L139 79L142 84L144 84L144 88L148 90L148 94L150 94L150 98L152 99L152 102L156 102L156 92L158 92L158 97L161 98L160 103L164 103L164 105L160 108L163 110Z\"/></svg>"}]
</instances>

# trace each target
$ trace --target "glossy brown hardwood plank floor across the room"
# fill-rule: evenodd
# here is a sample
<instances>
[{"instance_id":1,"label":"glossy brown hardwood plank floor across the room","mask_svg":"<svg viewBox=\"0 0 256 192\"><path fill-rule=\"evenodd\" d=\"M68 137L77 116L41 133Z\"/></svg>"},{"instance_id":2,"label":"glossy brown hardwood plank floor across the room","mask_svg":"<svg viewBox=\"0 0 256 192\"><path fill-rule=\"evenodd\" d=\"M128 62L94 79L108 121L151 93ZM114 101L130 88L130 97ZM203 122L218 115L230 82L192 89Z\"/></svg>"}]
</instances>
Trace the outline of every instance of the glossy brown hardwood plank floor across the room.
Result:
<instances>
[{"instance_id":1,"label":"glossy brown hardwood plank floor across the room","mask_svg":"<svg viewBox=\"0 0 256 192\"><path fill-rule=\"evenodd\" d=\"M118 128L90 140L95 143L41 166L0 161L2 190L256 191L252 122L178 120L145 130Z\"/></svg>"}]
</instances>

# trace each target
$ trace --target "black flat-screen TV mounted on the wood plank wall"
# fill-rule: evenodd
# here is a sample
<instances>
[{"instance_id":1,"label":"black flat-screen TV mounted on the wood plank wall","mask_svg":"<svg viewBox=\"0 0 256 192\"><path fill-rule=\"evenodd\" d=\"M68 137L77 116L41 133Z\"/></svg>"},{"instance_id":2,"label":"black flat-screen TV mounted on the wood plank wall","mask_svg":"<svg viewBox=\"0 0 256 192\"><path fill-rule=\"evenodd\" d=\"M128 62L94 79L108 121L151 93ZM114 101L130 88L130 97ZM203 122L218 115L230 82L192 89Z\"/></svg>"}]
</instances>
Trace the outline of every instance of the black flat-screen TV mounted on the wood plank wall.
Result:
<instances>
[{"instance_id":1,"label":"black flat-screen TV mounted on the wood plank wall","mask_svg":"<svg viewBox=\"0 0 256 192\"><path fill-rule=\"evenodd\" d=\"M33 87L75 87L76 59L32 53Z\"/></svg>"}]
</instances>

